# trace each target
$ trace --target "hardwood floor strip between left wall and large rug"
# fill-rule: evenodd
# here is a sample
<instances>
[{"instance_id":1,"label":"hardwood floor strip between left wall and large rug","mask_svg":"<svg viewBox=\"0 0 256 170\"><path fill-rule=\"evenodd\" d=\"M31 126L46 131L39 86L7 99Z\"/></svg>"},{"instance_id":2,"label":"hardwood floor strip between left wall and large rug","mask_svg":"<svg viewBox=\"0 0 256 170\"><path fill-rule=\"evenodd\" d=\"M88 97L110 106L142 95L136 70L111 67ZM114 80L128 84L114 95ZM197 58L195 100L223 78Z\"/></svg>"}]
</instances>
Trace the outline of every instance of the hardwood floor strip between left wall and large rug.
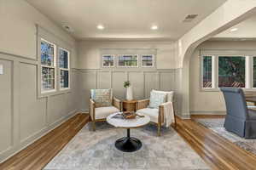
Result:
<instances>
[{"instance_id":1,"label":"hardwood floor strip between left wall and large rug","mask_svg":"<svg viewBox=\"0 0 256 170\"><path fill-rule=\"evenodd\" d=\"M42 169L89 122L90 116L78 114L41 139L0 164L1 170Z\"/></svg>"}]
</instances>

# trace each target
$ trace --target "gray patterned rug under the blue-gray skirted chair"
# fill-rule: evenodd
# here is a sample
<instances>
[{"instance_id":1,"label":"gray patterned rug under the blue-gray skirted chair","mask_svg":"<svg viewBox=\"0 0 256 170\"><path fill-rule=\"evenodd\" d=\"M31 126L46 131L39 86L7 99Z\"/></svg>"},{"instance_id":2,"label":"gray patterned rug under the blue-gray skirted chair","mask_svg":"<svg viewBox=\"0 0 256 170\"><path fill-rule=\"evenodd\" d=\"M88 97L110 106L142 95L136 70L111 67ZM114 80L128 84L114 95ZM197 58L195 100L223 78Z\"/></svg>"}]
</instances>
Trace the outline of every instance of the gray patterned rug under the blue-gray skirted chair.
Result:
<instances>
[{"instance_id":1,"label":"gray patterned rug under the blue-gray skirted chair","mask_svg":"<svg viewBox=\"0 0 256 170\"><path fill-rule=\"evenodd\" d=\"M230 142L241 147L243 150L247 150L256 155L256 139L243 139L237 136L235 133L230 133L224 128L224 118L199 118L195 119L195 122L199 122L204 127L211 129L213 132L224 137L224 139L230 140Z\"/></svg>"}]
</instances>

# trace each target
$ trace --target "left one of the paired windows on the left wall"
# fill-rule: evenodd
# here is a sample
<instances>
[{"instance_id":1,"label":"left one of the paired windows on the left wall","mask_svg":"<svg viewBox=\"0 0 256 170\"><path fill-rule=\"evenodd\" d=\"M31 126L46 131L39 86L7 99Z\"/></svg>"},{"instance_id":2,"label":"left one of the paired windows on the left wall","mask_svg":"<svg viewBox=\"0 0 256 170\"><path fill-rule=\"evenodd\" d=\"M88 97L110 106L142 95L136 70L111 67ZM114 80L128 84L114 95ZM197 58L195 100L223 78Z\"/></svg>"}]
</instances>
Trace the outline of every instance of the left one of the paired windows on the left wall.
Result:
<instances>
[{"instance_id":1,"label":"left one of the paired windows on the left wall","mask_svg":"<svg viewBox=\"0 0 256 170\"><path fill-rule=\"evenodd\" d=\"M41 91L55 90L55 44L41 39Z\"/></svg>"}]
</instances>

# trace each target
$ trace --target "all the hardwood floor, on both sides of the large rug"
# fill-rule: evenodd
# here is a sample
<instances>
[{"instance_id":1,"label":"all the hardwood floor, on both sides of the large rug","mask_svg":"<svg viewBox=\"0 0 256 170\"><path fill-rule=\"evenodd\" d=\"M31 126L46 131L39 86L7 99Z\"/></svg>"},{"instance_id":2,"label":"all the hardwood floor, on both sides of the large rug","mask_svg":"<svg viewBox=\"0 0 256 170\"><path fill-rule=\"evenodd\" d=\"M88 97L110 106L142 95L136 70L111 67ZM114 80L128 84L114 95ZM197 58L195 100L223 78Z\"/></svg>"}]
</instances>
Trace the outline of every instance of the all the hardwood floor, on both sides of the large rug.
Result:
<instances>
[{"instance_id":1,"label":"all the hardwood floor, on both sides of the large rug","mask_svg":"<svg viewBox=\"0 0 256 170\"><path fill-rule=\"evenodd\" d=\"M212 167L223 170L256 169L256 156L203 127L193 118L223 116L191 116L191 120L177 118L177 133ZM73 136L89 122L89 115L78 114L56 127L35 143L0 164L0 169L42 169Z\"/></svg>"}]
</instances>

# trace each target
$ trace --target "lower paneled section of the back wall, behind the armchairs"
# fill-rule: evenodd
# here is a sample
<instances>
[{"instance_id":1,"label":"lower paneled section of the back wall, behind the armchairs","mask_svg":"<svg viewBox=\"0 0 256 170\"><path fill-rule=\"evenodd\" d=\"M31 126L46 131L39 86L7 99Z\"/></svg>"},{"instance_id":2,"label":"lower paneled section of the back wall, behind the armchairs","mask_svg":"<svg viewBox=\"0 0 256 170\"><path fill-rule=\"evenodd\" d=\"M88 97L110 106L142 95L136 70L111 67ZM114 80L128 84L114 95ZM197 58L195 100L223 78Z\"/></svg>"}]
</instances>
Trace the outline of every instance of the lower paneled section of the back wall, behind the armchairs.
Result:
<instances>
[{"instance_id":1,"label":"lower paneled section of the back wall, behind the armchairs","mask_svg":"<svg viewBox=\"0 0 256 170\"><path fill-rule=\"evenodd\" d=\"M81 105L82 111L89 111L89 99L91 88L113 88L113 95L119 99L125 99L125 88L123 82L131 81L134 99L146 99L152 89L175 91L177 93L176 80L177 69L168 70L113 70L104 71L100 69L79 70L79 80L81 85ZM178 95L178 94L177 94ZM176 95L175 95L176 97ZM178 107L177 107L178 108Z\"/></svg>"}]
</instances>

